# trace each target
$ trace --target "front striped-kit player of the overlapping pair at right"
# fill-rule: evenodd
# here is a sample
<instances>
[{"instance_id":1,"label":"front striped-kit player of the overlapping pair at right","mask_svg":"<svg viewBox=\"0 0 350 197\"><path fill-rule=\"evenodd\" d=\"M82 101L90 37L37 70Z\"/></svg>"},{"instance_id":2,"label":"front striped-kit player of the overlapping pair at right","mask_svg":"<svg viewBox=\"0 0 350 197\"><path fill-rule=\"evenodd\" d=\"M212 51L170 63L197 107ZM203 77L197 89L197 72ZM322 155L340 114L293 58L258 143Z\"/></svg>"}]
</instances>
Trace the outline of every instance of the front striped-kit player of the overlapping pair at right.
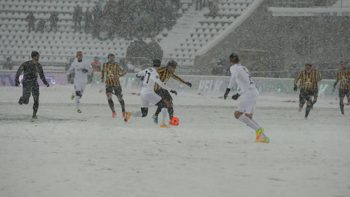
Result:
<instances>
[{"instance_id":1,"label":"front striped-kit player of the overlapping pair at right","mask_svg":"<svg viewBox=\"0 0 350 197\"><path fill-rule=\"evenodd\" d=\"M314 95L315 89L315 80L318 80L316 77L315 71L311 70L311 64L305 64L305 70L301 71L294 80L294 91L298 90L297 82L300 79L300 94L299 94L299 112L301 112L305 101L306 103L306 112L305 119L309 115L311 109L311 97Z\"/></svg>"}]
</instances>

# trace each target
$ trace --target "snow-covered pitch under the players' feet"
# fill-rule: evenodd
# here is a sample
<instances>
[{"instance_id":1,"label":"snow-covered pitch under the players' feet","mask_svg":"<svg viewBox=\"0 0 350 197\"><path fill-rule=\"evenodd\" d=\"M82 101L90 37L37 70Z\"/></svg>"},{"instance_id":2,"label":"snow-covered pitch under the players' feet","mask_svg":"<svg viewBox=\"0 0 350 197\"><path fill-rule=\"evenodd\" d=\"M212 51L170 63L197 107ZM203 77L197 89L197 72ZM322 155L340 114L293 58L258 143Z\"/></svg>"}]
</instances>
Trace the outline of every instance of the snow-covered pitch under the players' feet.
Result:
<instances>
[{"instance_id":1,"label":"snow-covered pitch under the players' feet","mask_svg":"<svg viewBox=\"0 0 350 197\"><path fill-rule=\"evenodd\" d=\"M124 123L116 97L112 119L102 88L87 86L77 114L73 85L41 87L31 122L33 99L20 106L22 88L0 87L1 197L350 195L350 107L341 116L336 96L304 120L298 95L260 94L254 117L271 139L260 144L223 92L179 91L180 125L159 128L154 106ZM139 109L133 92L123 89L127 110Z\"/></svg>"}]
</instances>

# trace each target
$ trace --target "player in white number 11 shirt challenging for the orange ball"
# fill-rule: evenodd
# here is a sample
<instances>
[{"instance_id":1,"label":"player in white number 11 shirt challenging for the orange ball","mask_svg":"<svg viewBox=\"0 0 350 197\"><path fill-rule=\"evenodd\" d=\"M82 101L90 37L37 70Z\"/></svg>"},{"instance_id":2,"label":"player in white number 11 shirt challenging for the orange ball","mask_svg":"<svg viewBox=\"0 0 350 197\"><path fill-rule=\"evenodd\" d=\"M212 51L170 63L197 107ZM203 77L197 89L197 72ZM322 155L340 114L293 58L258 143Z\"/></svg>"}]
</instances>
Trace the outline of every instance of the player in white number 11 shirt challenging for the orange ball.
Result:
<instances>
[{"instance_id":1,"label":"player in white number 11 shirt challenging for the orange ball","mask_svg":"<svg viewBox=\"0 0 350 197\"><path fill-rule=\"evenodd\" d=\"M163 89L174 93L177 95L177 92L175 90L171 90L163 84L158 75L158 70L160 69L160 64L153 62L153 68L146 68L145 70L141 70L136 76L141 78L141 80L144 82L142 84L142 89L141 89L141 112L136 111L136 112L126 112L125 113L125 122L129 121L130 116L135 116L135 117L146 117L148 113L148 107L149 103L155 104L156 106L159 106L162 108L160 114L162 117L161 120L161 125L160 127L166 128L169 127L165 124L165 119L167 116L167 111L168 111L168 106L167 104L162 100L162 97L160 97L158 94L156 94L153 90L153 86L155 83L160 85Z\"/></svg>"}]
</instances>

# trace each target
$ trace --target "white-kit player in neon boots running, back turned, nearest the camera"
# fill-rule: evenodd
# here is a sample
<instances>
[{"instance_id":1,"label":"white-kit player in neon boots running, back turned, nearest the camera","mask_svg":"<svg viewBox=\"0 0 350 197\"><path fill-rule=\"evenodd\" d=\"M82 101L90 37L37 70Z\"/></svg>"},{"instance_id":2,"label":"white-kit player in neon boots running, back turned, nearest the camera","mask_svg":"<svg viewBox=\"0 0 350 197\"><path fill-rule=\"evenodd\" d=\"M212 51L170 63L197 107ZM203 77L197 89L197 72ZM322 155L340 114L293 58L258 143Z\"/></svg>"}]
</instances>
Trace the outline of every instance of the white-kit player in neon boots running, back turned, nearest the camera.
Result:
<instances>
[{"instance_id":1,"label":"white-kit player in neon boots running, back turned, nearest the camera","mask_svg":"<svg viewBox=\"0 0 350 197\"><path fill-rule=\"evenodd\" d=\"M248 69L240 65L239 62L240 60L238 58L238 54L232 53L230 55L231 79L224 94L224 99L227 98L233 84L237 82L237 85L240 87L240 91L233 95L232 99L237 100L242 94L244 94L244 99L238 103L237 110L235 111L235 118L244 122L248 127L255 130L255 142L268 143L270 139L264 134L264 128L260 127L259 124L253 119L253 113L257 106L259 91L255 87Z\"/></svg>"}]
</instances>

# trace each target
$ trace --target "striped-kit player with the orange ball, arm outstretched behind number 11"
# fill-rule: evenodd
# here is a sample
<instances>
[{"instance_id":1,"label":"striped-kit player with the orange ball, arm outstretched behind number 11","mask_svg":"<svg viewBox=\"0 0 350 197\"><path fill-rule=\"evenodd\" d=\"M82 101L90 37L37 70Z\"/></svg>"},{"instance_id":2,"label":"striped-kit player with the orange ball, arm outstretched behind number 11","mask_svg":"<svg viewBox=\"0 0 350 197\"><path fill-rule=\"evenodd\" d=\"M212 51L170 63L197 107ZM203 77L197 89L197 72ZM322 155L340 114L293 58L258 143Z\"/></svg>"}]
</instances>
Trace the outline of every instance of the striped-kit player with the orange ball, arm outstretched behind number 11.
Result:
<instances>
[{"instance_id":1,"label":"striped-kit player with the orange ball, arm outstretched behind number 11","mask_svg":"<svg viewBox=\"0 0 350 197\"><path fill-rule=\"evenodd\" d=\"M154 63L158 63L160 65L160 60L154 60ZM174 60L170 60L167 63L167 66L164 68L161 68L158 70L158 74L159 74L159 79L161 82L163 82L164 84L167 83L167 81L169 81L170 77L173 77L174 79L176 79L177 81L184 83L188 86L192 86L192 84L190 82L186 82L184 79L182 79L181 77L179 77L178 75L176 75L174 73L175 69L177 67L177 62ZM158 84L154 85L154 92L156 94L158 94L160 97L162 97L162 100L167 104L168 106L168 113L169 113L169 119L170 121L173 119L174 116L174 109L173 109L173 98L172 96L170 96L170 93L161 88ZM158 114L161 112L161 108L158 107L155 114L152 116L154 123L158 124ZM170 124L170 122L169 122Z\"/></svg>"}]
</instances>

